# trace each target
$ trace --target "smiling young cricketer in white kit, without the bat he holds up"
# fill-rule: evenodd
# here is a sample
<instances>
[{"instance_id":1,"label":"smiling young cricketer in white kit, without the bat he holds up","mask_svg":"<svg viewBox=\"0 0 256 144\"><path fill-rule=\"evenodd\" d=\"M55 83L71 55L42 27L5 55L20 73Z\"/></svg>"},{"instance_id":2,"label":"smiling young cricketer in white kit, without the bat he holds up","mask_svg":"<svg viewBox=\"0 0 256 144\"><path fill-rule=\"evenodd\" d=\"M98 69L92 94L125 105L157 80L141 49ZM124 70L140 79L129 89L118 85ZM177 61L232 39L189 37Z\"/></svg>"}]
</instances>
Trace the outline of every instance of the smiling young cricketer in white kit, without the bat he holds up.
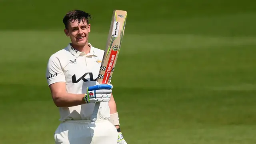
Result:
<instances>
[{"instance_id":1,"label":"smiling young cricketer in white kit, without the bat he holds up","mask_svg":"<svg viewBox=\"0 0 256 144\"><path fill-rule=\"evenodd\" d=\"M71 43L48 60L46 78L61 121L54 134L55 143L126 144L119 128L113 86L98 86L96 82L104 50L88 43L90 17L80 10L64 16L64 32ZM100 107L93 115L96 102Z\"/></svg>"}]
</instances>

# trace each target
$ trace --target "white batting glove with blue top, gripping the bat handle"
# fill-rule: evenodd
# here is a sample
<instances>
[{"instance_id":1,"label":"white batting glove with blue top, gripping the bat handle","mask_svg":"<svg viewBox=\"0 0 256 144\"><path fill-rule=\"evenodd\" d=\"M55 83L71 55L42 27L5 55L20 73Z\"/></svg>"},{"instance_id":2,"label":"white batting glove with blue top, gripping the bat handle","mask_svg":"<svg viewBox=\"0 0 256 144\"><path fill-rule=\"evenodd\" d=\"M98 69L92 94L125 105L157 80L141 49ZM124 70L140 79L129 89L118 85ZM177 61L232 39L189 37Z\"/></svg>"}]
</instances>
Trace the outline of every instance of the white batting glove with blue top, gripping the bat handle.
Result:
<instances>
[{"instance_id":1,"label":"white batting glove with blue top, gripping the bat handle","mask_svg":"<svg viewBox=\"0 0 256 144\"><path fill-rule=\"evenodd\" d=\"M87 92L84 95L84 101L90 102L108 102L112 93L112 84L98 84L95 86L89 86Z\"/></svg>"}]
</instances>

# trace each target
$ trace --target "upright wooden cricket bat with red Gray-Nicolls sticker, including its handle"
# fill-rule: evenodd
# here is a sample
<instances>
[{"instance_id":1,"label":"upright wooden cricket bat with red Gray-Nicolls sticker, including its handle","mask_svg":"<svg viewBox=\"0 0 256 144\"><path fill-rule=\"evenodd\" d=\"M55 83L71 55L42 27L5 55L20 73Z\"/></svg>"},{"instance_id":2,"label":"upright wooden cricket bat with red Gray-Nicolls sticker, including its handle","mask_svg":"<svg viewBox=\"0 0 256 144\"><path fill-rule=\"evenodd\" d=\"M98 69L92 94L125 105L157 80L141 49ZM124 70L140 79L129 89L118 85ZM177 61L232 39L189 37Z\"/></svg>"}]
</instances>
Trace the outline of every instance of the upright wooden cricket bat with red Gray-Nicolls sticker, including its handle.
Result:
<instances>
[{"instance_id":1,"label":"upright wooden cricket bat with red Gray-Nicolls sticker, including its handle","mask_svg":"<svg viewBox=\"0 0 256 144\"><path fill-rule=\"evenodd\" d=\"M110 84L124 36L126 16L127 12L124 10L114 10L113 12L106 50L98 74L97 82L100 84ZM92 114L94 120L96 120L99 106L100 103L96 102L94 112Z\"/></svg>"}]
</instances>

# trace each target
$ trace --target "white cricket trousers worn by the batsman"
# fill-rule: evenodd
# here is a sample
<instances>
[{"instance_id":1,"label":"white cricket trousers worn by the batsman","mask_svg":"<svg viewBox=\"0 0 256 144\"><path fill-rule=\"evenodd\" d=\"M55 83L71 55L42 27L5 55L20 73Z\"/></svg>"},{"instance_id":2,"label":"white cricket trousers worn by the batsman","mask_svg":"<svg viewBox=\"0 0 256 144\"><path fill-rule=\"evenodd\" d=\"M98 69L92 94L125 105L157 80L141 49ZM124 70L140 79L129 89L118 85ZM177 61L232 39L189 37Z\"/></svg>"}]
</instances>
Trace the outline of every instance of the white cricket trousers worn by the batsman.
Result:
<instances>
[{"instance_id":1,"label":"white cricket trousers worn by the batsman","mask_svg":"<svg viewBox=\"0 0 256 144\"><path fill-rule=\"evenodd\" d=\"M117 144L118 132L109 120L68 120L54 134L55 144Z\"/></svg>"}]
</instances>

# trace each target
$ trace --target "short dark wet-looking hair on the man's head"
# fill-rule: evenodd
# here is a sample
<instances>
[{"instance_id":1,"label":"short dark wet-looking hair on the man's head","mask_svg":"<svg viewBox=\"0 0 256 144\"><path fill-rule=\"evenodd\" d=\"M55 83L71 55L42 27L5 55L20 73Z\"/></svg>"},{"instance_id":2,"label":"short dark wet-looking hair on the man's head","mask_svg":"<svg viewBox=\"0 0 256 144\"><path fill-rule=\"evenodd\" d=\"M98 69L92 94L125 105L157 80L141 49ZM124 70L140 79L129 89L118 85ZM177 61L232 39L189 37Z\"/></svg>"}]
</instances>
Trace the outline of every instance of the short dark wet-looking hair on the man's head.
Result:
<instances>
[{"instance_id":1,"label":"short dark wet-looking hair on the man's head","mask_svg":"<svg viewBox=\"0 0 256 144\"><path fill-rule=\"evenodd\" d=\"M68 24L75 22L78 20L78 24L80 24L81 21L86 20L87 24L89 24L89 20L92 18L92 16L89 13L86 13L82 10L72 10L68 12L62 22L65 25L65 28L68 29Z\"/></svg>"}]
</instances>

